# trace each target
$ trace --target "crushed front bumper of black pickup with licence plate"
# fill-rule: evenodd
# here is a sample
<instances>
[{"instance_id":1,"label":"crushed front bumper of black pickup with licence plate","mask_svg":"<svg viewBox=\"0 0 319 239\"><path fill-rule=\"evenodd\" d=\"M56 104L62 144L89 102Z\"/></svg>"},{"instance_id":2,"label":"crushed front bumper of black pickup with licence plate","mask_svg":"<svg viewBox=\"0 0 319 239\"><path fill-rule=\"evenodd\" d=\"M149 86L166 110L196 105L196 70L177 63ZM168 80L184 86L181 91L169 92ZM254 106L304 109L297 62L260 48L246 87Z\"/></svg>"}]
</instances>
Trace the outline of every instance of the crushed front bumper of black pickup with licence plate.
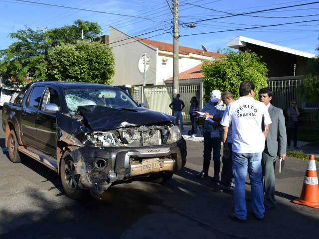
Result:
<instances>
[{"instance_id":1,"label":"crushed front bumper of black pickup with licence plate","mask_svg":"<svg viewBox=\"0 0 319 239\"><path fill-rule=\"evenodd\" d=\"M69 155L82 188L101 194L116 181L160 172L177 172L186 163L186 142L143 147L83 146Z\"/></svg>"}]
</instances>

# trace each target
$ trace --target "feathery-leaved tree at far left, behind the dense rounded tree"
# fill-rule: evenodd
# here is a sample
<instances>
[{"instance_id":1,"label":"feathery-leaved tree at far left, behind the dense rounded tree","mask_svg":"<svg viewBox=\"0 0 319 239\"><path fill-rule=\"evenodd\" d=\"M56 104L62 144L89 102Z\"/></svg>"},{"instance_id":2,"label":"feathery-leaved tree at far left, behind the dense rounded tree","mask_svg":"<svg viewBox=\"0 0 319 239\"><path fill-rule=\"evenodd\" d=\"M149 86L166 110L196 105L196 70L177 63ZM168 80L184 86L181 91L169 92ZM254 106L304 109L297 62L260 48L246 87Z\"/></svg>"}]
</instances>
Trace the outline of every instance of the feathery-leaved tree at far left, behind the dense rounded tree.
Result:
<instances>
[{"instance_id":1,"label":"feathery-leaved tree at far left, behind the dense rounded tree","mask_svg":"<svg viewBox=\"0 0 319 239\"><path fill-rule=\"evenodd\" d=\"M10 33L14 39L7 49L0 50L0 75L23 82L24 77L48 80L48 51L63 43L76 43L82 38L92 41L101 32L98 23L76 20L73 25L44 30L29 27Z\"/></svg>"}]
</instances>

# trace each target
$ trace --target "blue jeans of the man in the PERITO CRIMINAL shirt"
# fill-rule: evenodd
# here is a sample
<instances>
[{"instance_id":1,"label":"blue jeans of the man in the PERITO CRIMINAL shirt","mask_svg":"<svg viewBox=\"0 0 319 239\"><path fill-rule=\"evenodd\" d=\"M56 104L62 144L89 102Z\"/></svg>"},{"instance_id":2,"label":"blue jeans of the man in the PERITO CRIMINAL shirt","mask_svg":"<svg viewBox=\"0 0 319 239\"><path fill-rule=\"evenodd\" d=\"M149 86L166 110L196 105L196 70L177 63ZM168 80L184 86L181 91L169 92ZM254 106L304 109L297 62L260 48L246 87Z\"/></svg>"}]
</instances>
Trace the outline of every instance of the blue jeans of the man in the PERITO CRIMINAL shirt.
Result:
<instances>
[{"instance_id":1,"label":"blue jeans of the man in the PERITO CRIMINAL shirt","mask_svg":"<svg viewBox=\"0 0 319 239\"><path fill-rule=\"evenodd\" d=\"M235 177L235 215L241 220L247 218L246 207L246 176L247 169L251 185L251 205L257 218L263 218L265 213L264 193L262 184L262 152L260 153L235 153L233 152L233 167Z\"/></svg>"}]
</instances>

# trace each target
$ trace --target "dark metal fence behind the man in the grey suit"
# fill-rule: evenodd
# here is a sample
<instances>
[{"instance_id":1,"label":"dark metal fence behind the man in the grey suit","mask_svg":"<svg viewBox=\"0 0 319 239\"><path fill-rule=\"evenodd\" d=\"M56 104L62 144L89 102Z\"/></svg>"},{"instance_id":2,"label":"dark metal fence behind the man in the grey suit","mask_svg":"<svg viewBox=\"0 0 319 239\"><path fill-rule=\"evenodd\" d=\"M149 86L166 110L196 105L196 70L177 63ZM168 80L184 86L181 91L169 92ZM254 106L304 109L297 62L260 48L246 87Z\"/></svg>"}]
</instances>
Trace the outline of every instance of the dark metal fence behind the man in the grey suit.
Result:
<instances>
[{"instance_id":1,"label":"dark metal fence behind the man in the grey suit","mask_svg":"<svg viewBox=\"0 0 319 239\"><path fill-rule=\"evenodd\" d=\"M287 112L290 102L296 100L303 126L319 127L319 102L309 102L302 93L302 76L269 78L268 87L274 93L272 104Z\"/></svg>"}]
</instances>

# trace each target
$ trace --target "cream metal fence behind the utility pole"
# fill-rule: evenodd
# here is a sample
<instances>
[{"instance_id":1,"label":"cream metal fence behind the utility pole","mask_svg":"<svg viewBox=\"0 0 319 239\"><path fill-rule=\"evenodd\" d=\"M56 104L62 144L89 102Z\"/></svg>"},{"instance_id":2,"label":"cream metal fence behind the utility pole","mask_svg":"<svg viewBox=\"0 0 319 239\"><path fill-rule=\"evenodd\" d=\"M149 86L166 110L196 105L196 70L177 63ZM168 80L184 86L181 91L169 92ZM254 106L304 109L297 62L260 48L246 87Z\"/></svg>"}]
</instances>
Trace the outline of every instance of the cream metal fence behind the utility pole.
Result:
<instances>
[{"instance_id":1,"label":"cream metal fence behind the utility pole","mask_svg":"<svg viewBox=\"0 0 319 239\"><path fill-rule=\"evenodd\" d=\"M139 93L136 93L138 91ZM134 88L133 98L137 102L140 99L141 87ZM190 120L189 106L190 99L195 96L199 99L199 85L182 85L179 86L180 99L184 102L185 107L182 111L183 120ZM168 105L172 101L172 87L171 86L152 86L144 88L144 102L151 110L158 111L167 115L171 115L171 110Z\"/></svg>"}]
</instances>

